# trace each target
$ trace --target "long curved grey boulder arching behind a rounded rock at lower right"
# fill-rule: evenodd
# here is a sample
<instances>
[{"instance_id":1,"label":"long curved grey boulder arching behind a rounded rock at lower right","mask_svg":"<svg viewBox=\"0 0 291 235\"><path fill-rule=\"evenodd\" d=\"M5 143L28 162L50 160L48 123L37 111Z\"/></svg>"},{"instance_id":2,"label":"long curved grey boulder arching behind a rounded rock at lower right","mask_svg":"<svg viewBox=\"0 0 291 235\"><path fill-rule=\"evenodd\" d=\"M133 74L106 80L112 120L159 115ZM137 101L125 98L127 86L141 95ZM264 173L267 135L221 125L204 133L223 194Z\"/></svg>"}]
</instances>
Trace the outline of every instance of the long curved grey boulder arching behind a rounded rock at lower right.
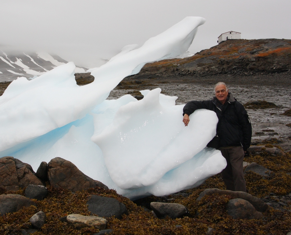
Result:
<instances>
[{"instance_id":1,"label":"long curved grey boulder arching behind a rounded rock at lower right","mask_svg":"<svg viewBox=\"0 0 291 235\"><path fill-rule=\"evenodd\" d=\"M268 205L260 200L260 198L257 198L249 193L246 192L240 192L240 191L230 191L230 190L221 190L218 188L207 188L203 192L200 192L199 196L197 197L197 201L200 201L201 198L205 195L212 195L212 194L218 194L218 195L230 195L232 196L232 199L235 198L241 198L249 203L251 203L257 211L265 212L268 209Z\"/></svg>"}]
</instances>

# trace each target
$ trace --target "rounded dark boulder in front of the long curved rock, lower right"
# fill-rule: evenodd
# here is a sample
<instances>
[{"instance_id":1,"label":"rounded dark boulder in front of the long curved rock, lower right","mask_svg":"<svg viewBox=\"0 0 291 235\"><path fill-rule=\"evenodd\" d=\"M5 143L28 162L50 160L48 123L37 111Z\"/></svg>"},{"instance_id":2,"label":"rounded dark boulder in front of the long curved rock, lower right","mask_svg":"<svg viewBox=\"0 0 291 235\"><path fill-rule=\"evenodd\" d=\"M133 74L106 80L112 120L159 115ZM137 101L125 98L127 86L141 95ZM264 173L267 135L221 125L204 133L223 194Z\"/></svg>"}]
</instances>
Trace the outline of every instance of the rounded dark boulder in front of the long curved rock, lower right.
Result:
<instances>
[{"instance_id":1,"label":"rounded dark boulder in front of the long curved rock, lower right","mask_svg":"<svg viewBox=\"0 0 291 235\"><path fill-rule=\"evenodd\" d=\"M256 211L251 203L241 198L229 200L226 209L234 219L260 219L263 217L263 214Z\"/></svg>"}]
</instances>

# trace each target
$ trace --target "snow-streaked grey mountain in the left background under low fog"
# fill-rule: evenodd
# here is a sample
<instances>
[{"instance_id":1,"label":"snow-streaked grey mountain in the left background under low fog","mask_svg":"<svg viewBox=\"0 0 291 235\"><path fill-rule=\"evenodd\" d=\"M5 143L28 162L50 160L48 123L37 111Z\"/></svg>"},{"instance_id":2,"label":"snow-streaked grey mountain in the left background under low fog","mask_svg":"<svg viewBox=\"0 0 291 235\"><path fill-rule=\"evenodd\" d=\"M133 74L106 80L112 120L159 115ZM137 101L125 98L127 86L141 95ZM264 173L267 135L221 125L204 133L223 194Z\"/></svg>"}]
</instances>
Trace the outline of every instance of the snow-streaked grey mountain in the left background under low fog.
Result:
<instances>
[{"instance_id":1,"label":"snow-streaked grey mountain in the left background under low fog","mask_svg":"<svg viewBox=\"0 0 291 235\"><path fill-rule=\"evenodd\" d=\"M39 76L67 61L58 55L45 52L24 53L0 50L0 82L12 81L17 77ZM87 68L76 66L75 73L85 73Z\"/></svg>"}]
</instances>

